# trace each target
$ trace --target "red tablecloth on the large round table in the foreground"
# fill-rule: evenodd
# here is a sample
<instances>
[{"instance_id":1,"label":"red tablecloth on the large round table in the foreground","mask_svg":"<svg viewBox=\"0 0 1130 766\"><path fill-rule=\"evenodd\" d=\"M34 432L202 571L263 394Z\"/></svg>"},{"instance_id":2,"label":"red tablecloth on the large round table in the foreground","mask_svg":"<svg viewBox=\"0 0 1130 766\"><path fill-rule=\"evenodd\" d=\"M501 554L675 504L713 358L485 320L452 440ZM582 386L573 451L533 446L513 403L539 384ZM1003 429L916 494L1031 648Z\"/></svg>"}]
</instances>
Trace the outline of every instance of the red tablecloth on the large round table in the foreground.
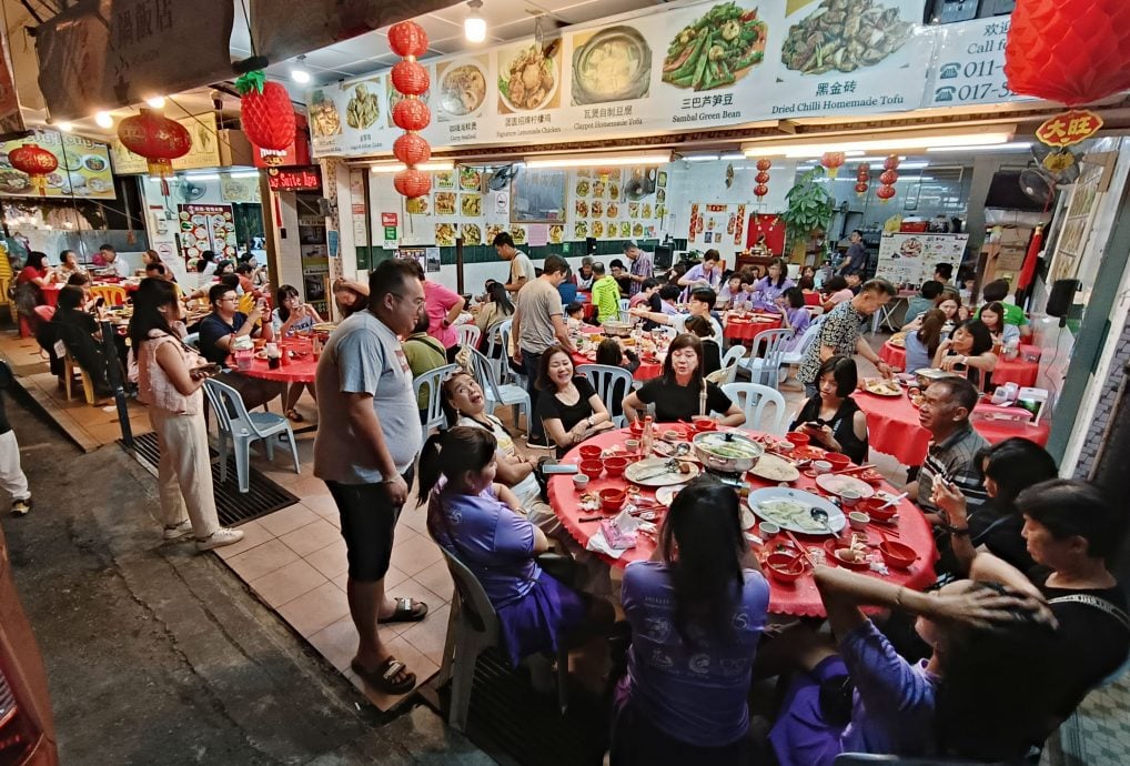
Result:
<instances>
[{"instance_id":1,"label":"red tablecloth on the large round table in the foreground","mask_svg":"<svg viewBox=\"0 0 1130 766\"><path fill-rule=\"evenodd\" d=\"M679 426L662 425L660 430L666 430L669 428L678 428ZM742 432L750 435L757 435L753 432ZM632 438L631 432L626 428L618 430L610 430L603 434L598 434L592 438L589 438L584 444L594 444L605 449L612 445L621 445L625 439ZM580 445L573 447L568 454L565 455L562 462L576 463L580 461ZM750 489L760 489L763 487L776 486L774 482L765 481L753 475L746 475L745 481L748 484ZM597 480L590 481L588 489L589 493L598 493L601 489L608 487L625 487L629 482L624 478L609 478L603 476ZM792 486L798 489L805 489L815 494L820 494L820 490L816 488L816 480L807 476L801 476ZM641 497L647 500L654 500L655 488L654 487L640 487L642 494ZM878 489L889 493L890 495L898 495L896 490L890 485L883 482ZM592 537L597 530L600 529L599 522L582 522L581 519L591 519L593 516L600 517L611 517L615 514L606 514L601 511L585 511L581 508L580 505L580 493L573 486L573 477L567 475L557 475L549 477L549 505L553 507L554 513L560 519L562 524L568 530L570 534L582 546L586 546L589 538ZM657 510L655 524L662 524L662 513L663 508ZM933 563L938 558L937 548L933 543L933 534L930 531L930 524L922 516L922 513L912 504L910 500L901 500L898 504L898 515L895 517L896 523L893 526L883 524L871 524L868 529L868 537L872 543L881 542L881 537L878 532L881 526L887 530L890 539L897 539L912 547L918 554L919 559L911 566L910 569L898 571L890 569L887 575L881 575L883 580L895 583L896 585L906 585L907 587L913 587L921 590L931 582L935 581ZM809 536L809 534L797 534L797 539L809 549L819 549L826 536ZM765 541L765 546L756 546L755 552L767 552L766 548L773 549L779 543L788 541L789 537L785 533L780 533ZM655 551L655 543L646 536L638 536L636 541L636 547L631 548L619 557L610 558L599 554L609 565L624 568L632 562L645 562L651 558L652 554ZM826 559L827 557L825 557ZM880 576L878 573L871 573L872 576ZM824 616L824 603L820 601L820 594L816 590L816 584L812 581L811 568L793 583L781 583L773 577L767 576L766 580L770 583L770 611L780 615L797 615L797 616L808 616L808 617L823 617Z\"/></svg>"}]
</instances>

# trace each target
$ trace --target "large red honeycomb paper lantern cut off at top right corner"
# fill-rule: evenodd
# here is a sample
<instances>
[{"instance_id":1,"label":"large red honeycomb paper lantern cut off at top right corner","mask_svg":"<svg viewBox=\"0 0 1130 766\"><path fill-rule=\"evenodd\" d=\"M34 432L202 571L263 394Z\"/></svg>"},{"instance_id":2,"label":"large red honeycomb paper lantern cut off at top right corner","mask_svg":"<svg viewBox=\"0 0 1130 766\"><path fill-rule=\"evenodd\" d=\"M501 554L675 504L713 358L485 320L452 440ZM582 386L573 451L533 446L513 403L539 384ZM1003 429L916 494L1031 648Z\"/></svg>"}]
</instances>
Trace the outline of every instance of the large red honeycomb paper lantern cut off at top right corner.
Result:
<instances>
[{"instance_id":1,"label":"large red honeycomb paper lantern cut off at top right corner","mask_svg":"<svg viewBox=\"0 0 1130 766\"><path fill-rule=\"evenodd\" d=\"M1130 3L1017 0L1005 47L1008 87L1087 104L1130 88Z\"/></svg>"}]
</instances>

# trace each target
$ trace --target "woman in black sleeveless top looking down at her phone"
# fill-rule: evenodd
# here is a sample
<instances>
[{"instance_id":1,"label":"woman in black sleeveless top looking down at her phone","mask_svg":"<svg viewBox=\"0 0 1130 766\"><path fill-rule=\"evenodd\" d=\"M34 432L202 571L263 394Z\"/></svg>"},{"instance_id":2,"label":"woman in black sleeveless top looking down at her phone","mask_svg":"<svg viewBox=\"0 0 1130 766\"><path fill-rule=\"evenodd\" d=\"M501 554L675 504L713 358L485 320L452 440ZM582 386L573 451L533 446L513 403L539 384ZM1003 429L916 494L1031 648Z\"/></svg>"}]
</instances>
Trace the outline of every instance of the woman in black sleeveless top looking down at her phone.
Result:
<instances>
[{"instance_id":1,"label":"woman in black sleeveless top looking down at her phone","mask_svg":"<svg viewBox=\"0 0 1130 766\"><path fill-rule=\"evenodd\" d=\"M805 402L789 428L802 430L815 445L842 452L852 462L867 462L867 415L851 398L858 382L850 356L826 359L816 373L816 395Z\"/></svg>"}]
</instances>

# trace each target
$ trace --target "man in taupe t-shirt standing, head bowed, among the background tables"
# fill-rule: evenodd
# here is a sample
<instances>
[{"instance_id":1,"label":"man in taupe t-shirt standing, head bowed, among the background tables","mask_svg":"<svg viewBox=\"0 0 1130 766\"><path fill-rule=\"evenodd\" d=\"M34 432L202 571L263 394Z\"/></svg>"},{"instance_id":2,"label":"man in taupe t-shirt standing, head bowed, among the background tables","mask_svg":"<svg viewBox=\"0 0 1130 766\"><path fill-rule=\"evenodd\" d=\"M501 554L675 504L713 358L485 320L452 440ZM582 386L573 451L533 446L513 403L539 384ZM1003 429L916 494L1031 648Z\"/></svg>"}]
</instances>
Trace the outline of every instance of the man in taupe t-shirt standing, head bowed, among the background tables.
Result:
<instances>
[{"instance_id":1,"label":"man in taupe t-shirt standing, head bowed, among the background tables","mask_svg":"<svg viewBox=\"0 0 1130 766\"><path fill-rule=\"evenodd\" d=\"M511 333L514 337L514 364L525 372L527 391L530 393L530 423L527 424L527 442L533 446L549 446L541 428L541 420L533 415L538 411L538 365L547 348L560 343L573 352L576 347L568 338L565 325L562 296L557 287L565 281L568 264L560 255L548 255L541 264L541 276L518 294Z\"/></svg>"}]
</instances>

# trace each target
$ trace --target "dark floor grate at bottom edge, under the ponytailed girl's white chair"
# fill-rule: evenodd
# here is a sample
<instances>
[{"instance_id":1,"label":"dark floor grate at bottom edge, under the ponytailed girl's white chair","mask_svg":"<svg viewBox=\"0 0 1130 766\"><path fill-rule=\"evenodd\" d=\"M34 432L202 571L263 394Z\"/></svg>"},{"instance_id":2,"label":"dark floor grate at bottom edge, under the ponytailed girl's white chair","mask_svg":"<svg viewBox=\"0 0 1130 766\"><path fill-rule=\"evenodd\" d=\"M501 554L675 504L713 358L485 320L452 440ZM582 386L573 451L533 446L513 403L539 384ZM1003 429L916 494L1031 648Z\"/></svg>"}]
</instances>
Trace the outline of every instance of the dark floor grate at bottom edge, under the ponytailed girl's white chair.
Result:
<instances>
[{"instance_id":1,"label":"dark floor grate at bottom edge, under the ponytailed girl's white chair","mask_svg":"<svg viewBox=\"0 0 1130 766\"><path fill-rule=\"evenodd\" d=\"M609 720L607 704L575 684L562 715L556 694L534 691L524 669L513 670L494 649L479 655L468 737L488 755L538 766L594 766L608 749Z\"/></svg>"}]
</instances>

